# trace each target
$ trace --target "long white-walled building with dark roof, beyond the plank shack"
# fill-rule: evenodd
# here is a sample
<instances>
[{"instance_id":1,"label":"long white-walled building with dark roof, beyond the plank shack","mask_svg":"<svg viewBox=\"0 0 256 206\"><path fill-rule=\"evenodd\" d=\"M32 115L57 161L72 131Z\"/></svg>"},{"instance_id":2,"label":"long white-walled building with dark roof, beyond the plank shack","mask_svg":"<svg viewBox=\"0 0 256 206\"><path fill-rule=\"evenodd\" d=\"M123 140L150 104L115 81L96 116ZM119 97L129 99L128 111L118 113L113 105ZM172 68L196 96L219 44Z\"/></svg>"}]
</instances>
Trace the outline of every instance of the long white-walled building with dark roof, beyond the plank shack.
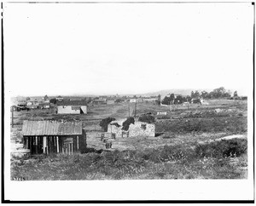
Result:
<instances>
[{"instance_id":1,"label":"long white-walled building with dark roof, beyond the plank shack","mask_svg":"<svg viewBox=\"0 0 256 206\"><path fill-rule=\"evenodd\" d=\"M84 101L57 101L58 114L86 114L87 105Z\"/></svg>"}]
</instances>

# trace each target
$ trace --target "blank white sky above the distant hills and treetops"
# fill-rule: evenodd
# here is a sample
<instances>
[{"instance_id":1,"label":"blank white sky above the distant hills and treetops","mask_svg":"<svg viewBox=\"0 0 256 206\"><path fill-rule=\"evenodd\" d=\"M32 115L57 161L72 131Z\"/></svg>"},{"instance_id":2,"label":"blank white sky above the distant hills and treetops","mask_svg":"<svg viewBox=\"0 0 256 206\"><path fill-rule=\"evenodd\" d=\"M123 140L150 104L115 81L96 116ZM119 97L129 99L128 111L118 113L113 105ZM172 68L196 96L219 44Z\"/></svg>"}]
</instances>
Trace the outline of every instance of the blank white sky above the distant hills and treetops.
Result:
<instances>
[{"instance_id":1,"label":"blank white sky above the distant hills and treetops","mask_svg":"<svg viewBox=\"0 0 256 206\"><path fill-rule=\"evenodd\" d=\"M4 3L3 35L11 95L253 87L251 3Z\"/></svg>"}]
</instances>

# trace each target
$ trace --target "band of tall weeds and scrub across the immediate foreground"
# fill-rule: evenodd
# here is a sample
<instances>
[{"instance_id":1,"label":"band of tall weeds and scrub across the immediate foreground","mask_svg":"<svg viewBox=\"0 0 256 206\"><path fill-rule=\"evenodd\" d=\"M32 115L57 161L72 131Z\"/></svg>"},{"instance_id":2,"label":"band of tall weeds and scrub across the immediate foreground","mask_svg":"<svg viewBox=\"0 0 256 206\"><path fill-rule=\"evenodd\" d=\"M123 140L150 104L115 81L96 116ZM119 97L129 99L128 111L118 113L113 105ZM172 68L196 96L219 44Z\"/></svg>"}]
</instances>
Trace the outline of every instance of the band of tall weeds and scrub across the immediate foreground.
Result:
<instances>
[{"instance_id":1,"label":"band of tall weeds and scrub across the immediate foreground","mask_svg":"<svg viewBox=\"0 0 256 206\"><path fill-rule=\"evenodd\" d=\"M86 152L31 159L15 158L11 177L24 180L119 180L241 178L233 157L247 166L247 140L233 139L206 145L160 146L142 151ZM36 172L35 172L36 171Z\"/></svg>"}]
</instances>

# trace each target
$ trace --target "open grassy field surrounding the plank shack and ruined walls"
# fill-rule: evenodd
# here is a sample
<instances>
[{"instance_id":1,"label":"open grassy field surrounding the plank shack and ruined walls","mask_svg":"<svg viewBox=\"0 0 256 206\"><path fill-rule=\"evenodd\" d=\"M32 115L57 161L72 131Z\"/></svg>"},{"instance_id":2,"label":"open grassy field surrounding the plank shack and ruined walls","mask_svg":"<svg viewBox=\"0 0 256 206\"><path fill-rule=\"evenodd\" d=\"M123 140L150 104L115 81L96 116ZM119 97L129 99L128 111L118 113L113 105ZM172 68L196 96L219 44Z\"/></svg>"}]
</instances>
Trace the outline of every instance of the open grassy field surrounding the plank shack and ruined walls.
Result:
<instances>
[{"instance_id":1,"label":"open grassy field surrounding the plank shack and ruined walls","mask_svg":"<svg viewBox=\"0 0 256 206\"><path fill-rule=\"evenodd\" d=\"M92 106L83 115L57 115L52 109L15 112L17 133L26 119L81 120L88 133L88 150L73 156L13 158L11 176L25 180L247 178L247 139L222 140L208 147L200 144L233 134L247 138L247 101L208 102L207 106L176 106L172 111L169 106L138 103L137 116L152 112L157 117L156 136L114 140L108 151L100 141L99 122L104 117L128 117L128 103ZM130 104L131 114L134 106ZM156 116L164 111L166 116Z\"/></svg>"}]
</instances>

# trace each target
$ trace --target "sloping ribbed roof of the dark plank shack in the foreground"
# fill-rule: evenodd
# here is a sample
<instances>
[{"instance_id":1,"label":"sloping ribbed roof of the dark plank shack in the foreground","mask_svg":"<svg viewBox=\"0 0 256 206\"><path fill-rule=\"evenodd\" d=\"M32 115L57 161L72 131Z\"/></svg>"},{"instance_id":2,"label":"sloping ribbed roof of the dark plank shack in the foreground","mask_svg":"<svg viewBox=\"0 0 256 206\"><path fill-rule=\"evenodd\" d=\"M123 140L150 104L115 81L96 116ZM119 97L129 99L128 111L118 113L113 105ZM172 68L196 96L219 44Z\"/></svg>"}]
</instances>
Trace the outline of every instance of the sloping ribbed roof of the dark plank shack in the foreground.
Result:
<instances>
[{"instance_id":1,"label":"sloping ribbed roof of the dark plank shack in the foreground","mask_svg":"<svg viewBox=\"0 0 256 206\"><path fill-rule=\"evenodd\" d=\"M22 134L35 135L80 135L82 134L81 122L57 122L57 121L28 121L22 126Z\"/></svg>"}]
</instances>

